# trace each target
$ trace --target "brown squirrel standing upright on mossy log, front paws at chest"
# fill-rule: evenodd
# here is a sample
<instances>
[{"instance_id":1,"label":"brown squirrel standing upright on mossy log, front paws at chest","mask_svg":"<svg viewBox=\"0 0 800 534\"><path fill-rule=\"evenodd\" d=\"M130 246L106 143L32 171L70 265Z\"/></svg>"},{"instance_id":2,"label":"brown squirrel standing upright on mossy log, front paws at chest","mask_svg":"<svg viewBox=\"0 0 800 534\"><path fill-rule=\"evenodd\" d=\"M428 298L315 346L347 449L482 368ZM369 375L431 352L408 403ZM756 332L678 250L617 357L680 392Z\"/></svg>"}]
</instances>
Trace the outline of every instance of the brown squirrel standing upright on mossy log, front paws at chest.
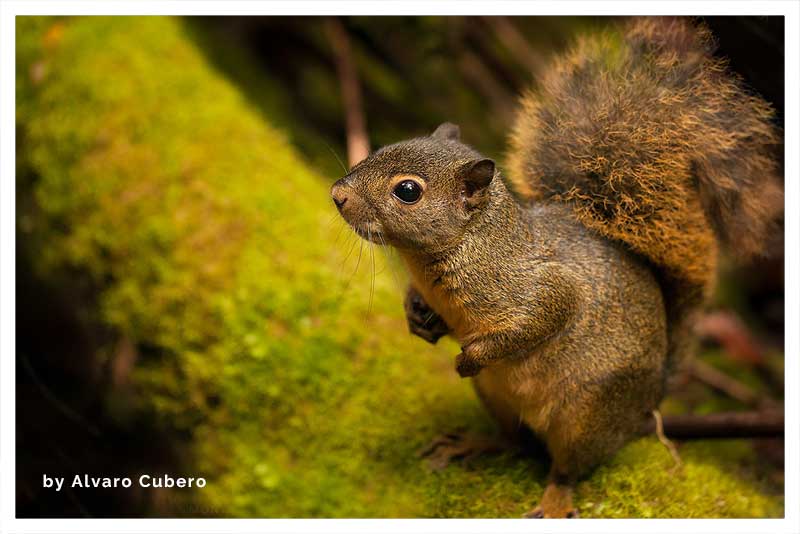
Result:
<instances>
[{"instance_id":1,"label":"brown squirrel standing upright on mossy log, front paws at chest","mask_svg":"<svg viewBox=\"0 0 800 534\"><path fill-rule=\"evenodd\" d=\"M782 213L774 111L714 50L685 18L582 36L523 96L508 180L445 123L332 187L408 267L411 332L455 338L505 433L546 445L528 517L577 515L576 481L642 435L691 354L720 246L763 253Z\"/></svg>"}]
</instances>

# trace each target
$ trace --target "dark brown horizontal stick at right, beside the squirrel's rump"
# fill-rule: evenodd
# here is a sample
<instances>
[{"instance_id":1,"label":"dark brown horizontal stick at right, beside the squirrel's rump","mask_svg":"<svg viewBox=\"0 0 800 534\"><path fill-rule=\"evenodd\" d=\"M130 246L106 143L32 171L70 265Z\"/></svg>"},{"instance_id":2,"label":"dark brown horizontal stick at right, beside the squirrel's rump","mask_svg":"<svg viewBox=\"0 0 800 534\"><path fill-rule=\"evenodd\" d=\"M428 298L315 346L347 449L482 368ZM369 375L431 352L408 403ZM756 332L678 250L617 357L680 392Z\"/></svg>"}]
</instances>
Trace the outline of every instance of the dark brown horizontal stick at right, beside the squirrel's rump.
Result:
<instances>
[{"instance_id":1,"label":"dark brown horizontal stick at right, beside the squirrel's rump","mask_svg":"<svg viewBox=\"0 0 800 534\"><path fill-rule=\"evenodd\" d=\"M783 413L722 412L708 415L671 415L663 419L664 434L672 439L783 438ZM651 420L648 434L656 431Z\"/></svg>"}]
</instances>

